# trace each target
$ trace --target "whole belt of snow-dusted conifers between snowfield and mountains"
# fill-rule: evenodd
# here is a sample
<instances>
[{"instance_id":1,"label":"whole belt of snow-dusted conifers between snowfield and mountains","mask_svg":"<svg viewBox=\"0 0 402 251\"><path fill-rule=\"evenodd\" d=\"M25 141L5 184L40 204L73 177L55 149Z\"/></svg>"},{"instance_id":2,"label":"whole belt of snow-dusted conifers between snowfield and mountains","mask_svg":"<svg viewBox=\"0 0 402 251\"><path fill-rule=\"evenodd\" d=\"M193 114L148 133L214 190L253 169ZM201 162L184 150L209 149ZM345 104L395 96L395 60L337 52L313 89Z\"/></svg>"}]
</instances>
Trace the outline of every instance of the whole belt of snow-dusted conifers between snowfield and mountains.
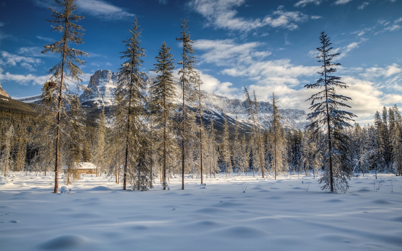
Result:
<instances>
[{"instance_id":1,"label":"whole belt of snow-dusted conifers between snowfield and mountains","mask_svg":"<svg viewBox=\"0 0 402 251\"><path fill-rule=\"evenodd\" d=\"M108 175L123 189L146 191L156 184L168 187L169 177L191 175L203 184L216 173L253 175L276 179L281 175L313 174L323 190L344 192L355 173L374 172L402 175L402 116L396 104L373 114L373 124L360 125L346 104L351 98L336 94L347 84L334 76L339 63L332 61L330 37L320 33L318 63L322 71L317 82L305 88L319 89L306 97L311 102L310 125L304 130L285 129L279 112L280 98L272 93L271 127L260 125L255 92L244 87L248 104L249 131L240 132L228 120L217 126L203 106L202 80L183 19L176 40L183 46L176 85L170 47L163 43L152 71L156 74L146 88L147 74L140 71L145 57L141 31L135 18L123 43L115 105L83 107L79 90L86 90L80 76L82 57L88 53L70 45L83 43L84 29L77 25L83 16L73 14L74 0L58 2L64 13L51 9L50 22L62 38L44 45L42 53L58 53L60 61L49 70L41 104L16 104L1 96L1 172L40 172L71 184L80 179L80 162L96 165L96 176ZM180 104L174 104L178 98ZM344 102L345 101L345 102ZM16 101L15 101L16 102ZM106 110L106 111L105 111ZM204 123L207 121L207 123ZM216 128L221 128L217 130ZM61 173L62 167L67 167Z\"/></svg>"}]
</instances>

